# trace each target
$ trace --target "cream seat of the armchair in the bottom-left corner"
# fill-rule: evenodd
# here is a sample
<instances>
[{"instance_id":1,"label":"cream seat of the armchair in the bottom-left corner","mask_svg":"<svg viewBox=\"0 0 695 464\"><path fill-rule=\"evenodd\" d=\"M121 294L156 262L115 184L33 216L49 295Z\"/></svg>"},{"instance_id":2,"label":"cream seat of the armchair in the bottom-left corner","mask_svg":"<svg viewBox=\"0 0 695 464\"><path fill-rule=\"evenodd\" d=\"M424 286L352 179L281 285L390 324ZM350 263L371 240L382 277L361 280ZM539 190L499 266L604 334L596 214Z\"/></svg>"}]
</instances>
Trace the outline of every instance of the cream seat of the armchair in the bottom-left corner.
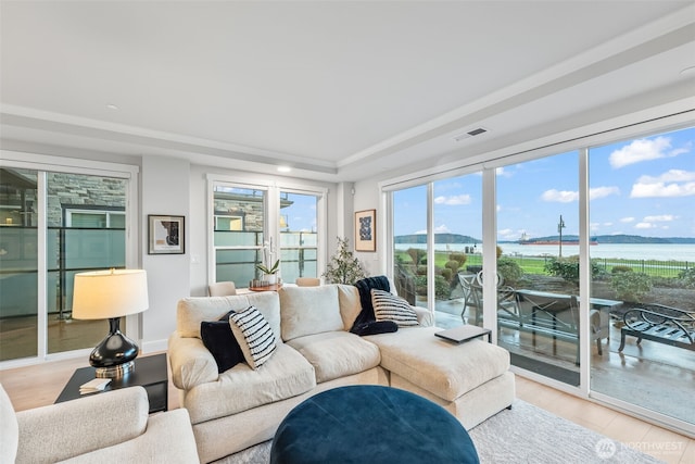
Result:
<instances>
[{"instance_id":1,"label":"cream seat of the armchair in the bottom-left corner","mask_svg":"<svg viewBox=\"0 0 695 464\"><path fill-rule=\"evenodd\" d=\"M71 464L199 463L195 437L185 409L153 414L144 434L110 448L81 454Z\"/></svg>"}]
</instances>

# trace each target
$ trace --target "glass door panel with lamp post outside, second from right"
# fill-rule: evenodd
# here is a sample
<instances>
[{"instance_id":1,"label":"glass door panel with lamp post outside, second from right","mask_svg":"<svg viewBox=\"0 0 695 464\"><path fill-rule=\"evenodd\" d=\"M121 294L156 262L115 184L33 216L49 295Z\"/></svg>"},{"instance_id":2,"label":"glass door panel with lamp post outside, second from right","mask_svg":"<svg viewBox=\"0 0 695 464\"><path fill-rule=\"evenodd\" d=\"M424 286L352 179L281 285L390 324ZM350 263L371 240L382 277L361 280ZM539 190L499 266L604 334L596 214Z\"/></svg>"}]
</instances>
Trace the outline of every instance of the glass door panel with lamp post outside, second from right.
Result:
<instances>
[{"instance_id":1,"label":"glass door panel with lamp post outside, second from right","mask_svg":"<svg viewBox=\"0 0 695 464\"><path fill-rule=\"evenodd\" d=\"M579 153L497 170L497 342L511 363L579 386Z\"/></svg>"}]
</instances>

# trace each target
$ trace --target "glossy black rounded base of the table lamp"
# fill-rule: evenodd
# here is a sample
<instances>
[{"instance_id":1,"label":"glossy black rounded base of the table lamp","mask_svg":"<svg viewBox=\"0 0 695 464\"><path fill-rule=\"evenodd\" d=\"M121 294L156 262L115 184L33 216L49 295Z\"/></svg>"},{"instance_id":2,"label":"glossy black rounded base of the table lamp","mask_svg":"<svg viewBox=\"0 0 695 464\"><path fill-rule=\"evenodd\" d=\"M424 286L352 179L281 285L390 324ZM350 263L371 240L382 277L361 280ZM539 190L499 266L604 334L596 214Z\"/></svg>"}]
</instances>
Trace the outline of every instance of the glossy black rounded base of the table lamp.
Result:
<instances>
[{"instance_id":1,"label":"glossy black rounded base of the table lamp","mask_svg":"<svg viewBox=\"0 0 695 464\"><path fill-rule=\"evenodd\" d=\"M99 378L118 378L135 369L138 344L121 333L121 318L109 319L109 336L89 355L89 364Z\"/></svg>"}]
</instances>

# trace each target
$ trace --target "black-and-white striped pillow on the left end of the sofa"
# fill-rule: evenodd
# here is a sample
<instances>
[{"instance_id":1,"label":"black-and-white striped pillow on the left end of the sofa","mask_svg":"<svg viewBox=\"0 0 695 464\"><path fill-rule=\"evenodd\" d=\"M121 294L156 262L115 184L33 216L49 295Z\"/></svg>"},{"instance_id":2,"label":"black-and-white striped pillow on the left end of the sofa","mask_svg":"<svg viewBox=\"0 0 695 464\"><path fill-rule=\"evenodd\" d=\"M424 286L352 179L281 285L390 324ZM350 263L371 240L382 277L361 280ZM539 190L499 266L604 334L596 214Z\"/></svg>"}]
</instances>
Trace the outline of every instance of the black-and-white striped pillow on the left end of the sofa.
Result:
<instances>
[{"instance_id":1,"label":"black-and-white striped pillow on the left end of the sofa","mask_svg":"<svg viewBox=\"0 0 695 464\"><path fill-rule=\"evenodd\" d=\"M255 306L229 315L231 331L241 347L244 360L254 371L275 353L275 335Z\"/></svg>"}]
</instances>

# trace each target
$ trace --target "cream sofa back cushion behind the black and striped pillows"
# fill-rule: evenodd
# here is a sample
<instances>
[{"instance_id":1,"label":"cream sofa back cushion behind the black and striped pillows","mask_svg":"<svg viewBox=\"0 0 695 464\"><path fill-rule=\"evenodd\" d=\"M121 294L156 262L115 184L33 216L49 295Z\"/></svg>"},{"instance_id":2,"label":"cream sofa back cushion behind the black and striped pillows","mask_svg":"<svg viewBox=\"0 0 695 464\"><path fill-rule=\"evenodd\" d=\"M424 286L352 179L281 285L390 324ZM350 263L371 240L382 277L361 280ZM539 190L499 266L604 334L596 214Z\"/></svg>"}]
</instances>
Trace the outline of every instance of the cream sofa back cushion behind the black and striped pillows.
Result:
<instances>
[{"instance_id":1,"label":"cream sofa back cushion behind the black and striped pillows","mask_svg":"<svg viewBox=\"0 0 695 464\"><path fill-rule=\"evenodd\" d=\"M200 336L200 323L219 321L229 310L241 311L254 305L268 322L280 341L280 299L275 291L235 294L230 297L190 297L178 301L176 308L176 330L181 337Z\"/></svg>"}]
</instances>

